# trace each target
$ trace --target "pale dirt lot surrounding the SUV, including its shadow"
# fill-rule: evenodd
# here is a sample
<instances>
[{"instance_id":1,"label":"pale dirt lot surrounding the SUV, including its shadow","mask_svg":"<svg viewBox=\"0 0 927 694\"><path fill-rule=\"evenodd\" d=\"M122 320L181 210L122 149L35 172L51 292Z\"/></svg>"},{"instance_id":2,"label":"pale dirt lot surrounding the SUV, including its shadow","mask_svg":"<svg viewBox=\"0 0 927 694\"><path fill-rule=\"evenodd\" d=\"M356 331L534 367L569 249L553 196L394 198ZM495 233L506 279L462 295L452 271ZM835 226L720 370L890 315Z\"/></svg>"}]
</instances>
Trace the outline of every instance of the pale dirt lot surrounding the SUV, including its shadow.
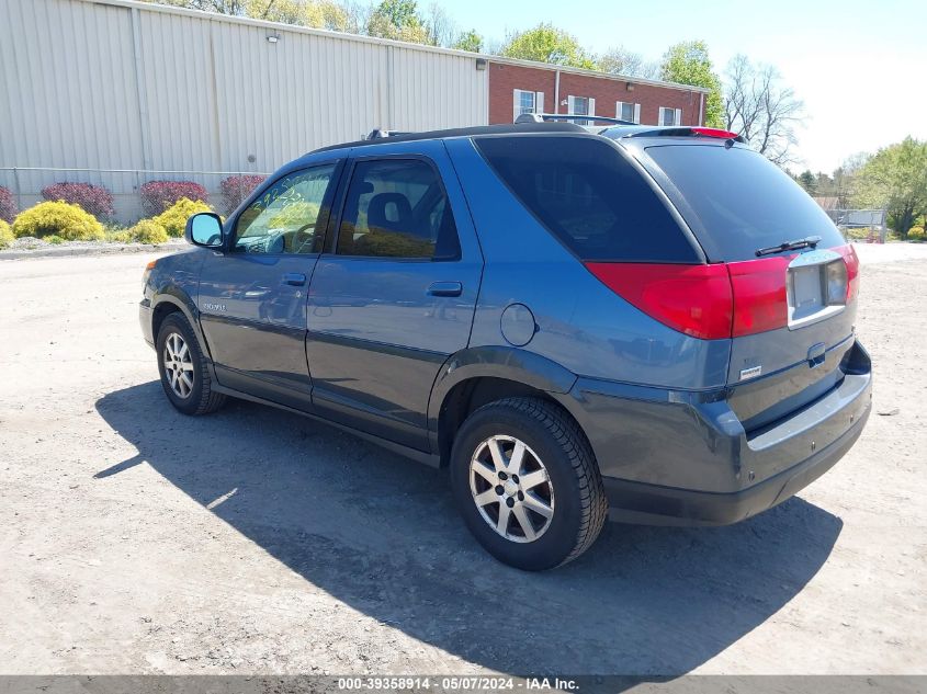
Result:
<instances>
[{"instance_id":1,"label":"pale dirt lot surrounding the SUV, including its shadow","mask_svg":"<svg viewBox=\"0 0 927 694\"><path fill-rule=\"evenodd\" d=\"M866 250L883 416L852 452L741 525L610 525L543 574L477 547L442 473L174 412L149 255L4 261L0 672L927 672L927 261Z\"/></svg>"}]
</instances>

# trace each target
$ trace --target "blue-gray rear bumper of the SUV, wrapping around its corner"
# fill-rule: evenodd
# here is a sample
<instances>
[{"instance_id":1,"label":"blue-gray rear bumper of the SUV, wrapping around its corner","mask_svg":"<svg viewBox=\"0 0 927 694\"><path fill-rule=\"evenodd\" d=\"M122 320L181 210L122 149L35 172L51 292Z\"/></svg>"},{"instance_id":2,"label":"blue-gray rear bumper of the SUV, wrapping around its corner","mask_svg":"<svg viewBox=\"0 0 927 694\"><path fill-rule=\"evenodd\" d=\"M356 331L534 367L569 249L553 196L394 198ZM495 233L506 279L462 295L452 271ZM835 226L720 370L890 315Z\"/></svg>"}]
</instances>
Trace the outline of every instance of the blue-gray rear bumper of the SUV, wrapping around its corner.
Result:
<instances>
[{"instance_id":1,"label":"blue-gray rear bumper of the SUV, wrapping around its corner","mask_svg":"<svg viewBox=\"0 0 927 694\"><path fill-rule=\"evenodd\" d=\"M830 469L872 405L858 343L835 387L747 432L727 391L685 392L579 379L570 391L617 521L726 525L785 501Z\"/></svg>"}]
</instances>

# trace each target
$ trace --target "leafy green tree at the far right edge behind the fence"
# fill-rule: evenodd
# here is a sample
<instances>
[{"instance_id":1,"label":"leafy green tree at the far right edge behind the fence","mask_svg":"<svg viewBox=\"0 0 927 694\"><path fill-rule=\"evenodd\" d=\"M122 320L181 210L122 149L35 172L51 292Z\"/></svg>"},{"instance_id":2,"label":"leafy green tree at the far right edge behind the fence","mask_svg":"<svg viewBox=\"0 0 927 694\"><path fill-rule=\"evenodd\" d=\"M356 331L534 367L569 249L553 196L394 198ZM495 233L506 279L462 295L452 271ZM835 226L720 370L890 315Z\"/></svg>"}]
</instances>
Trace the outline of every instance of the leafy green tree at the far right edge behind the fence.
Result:
<instances>
[{"instance_id":1,"label":"leafy green tree at the far right edge behind the fence","mask_svg":"<svg viewBox=\"0 0 927 694\"><path fill-rule=\"evenodd\" d=\"M880 149L857 175L853 204L885 207L890 226L903 239L927 214L927 141L907 137Z\"/></svg>"}]
</instances>

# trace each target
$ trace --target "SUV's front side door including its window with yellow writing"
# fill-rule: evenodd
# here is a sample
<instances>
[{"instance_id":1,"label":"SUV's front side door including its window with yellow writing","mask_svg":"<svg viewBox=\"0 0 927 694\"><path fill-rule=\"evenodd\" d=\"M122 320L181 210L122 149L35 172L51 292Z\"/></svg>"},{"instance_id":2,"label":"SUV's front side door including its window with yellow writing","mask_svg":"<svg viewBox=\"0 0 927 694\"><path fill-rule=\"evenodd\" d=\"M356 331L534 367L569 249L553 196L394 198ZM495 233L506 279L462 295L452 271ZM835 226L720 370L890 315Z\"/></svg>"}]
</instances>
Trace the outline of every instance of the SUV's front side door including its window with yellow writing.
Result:
<instances>
[{"instance_id":1,"label":"SUV's front side door including its window with yellow writing","mask_svg":"<svg viewBox=\"0 0 927 694\"><path fill-rule=\"evenodd\" d=\"M226 251L206 259L200 320L221 384L312 409L306 292L339 170L325 163L280 178L230 220Z\"/></svg>"}]
</instances>

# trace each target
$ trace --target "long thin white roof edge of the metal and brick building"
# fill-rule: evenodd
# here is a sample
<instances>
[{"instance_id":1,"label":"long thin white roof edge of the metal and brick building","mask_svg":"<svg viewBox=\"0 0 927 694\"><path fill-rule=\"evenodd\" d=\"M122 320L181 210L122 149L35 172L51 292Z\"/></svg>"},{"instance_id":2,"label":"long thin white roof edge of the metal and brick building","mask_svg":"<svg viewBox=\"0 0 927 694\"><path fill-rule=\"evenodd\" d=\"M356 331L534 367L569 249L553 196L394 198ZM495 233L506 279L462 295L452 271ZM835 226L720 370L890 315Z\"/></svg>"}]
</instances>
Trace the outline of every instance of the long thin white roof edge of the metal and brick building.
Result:
<instances>
[{"instance_id":1,"label":"long thin white roof edge of the metal and brick building","mask_svg":"<svg viewBox=\"0 0 927 694\"><path fill-rule=\"evenodd\" d=\"M399 48L407 48L411 50L419 50L422 53L434 53L440 55L456 56L460 58L483 58L489 62L499 65L512 65L523 68L534 68L541 70L550 70L567 75L579 75L584 77L595 77L599 79L609 79L619 82L633 82L634 84L648 84L651 87L663 87L664 89L676 89L680 91L702 92L708 93L710 90L704 87L693 87L691 84L679 84L676 82L664 82L660 80L649 80L642 77L631 77L628 75L614 75L611 72L600 72L598 70L587 70L584 68L574 68L564 65L552 65L550 62L538 62L535 60L522 60L519 58L507 58L486 53L471 53L468 50L457 50L456 48L443 48L441 46L429 46L426 44L414 44L403 41L393 41L391 38L376 38L374 36L363 36L361 34L350 34L348 32L335 32L327 29L313 29L309 26L298 26L296 24L284 24L282 22L268 22L265 20L255 20L249 16L236 16L234 14L222 14L219 12L206 12L204 10L189 10L186 8L176 8L169 4L157 4L156 2L138 2L137 0L80 0L91 4L104 4L112 7L122 7L136 10L144 10L146 12L161 12L163 14L178 14L181 16L195 16L197 19L208 20L211 22L225 22L229 24L241 24L245 26L257 26L263 29L271 29L278 32L293 32L296 34L309 34L320 36L324 38L335 38L339 41L353 41L363 44L372 44L380 46L396 46Z\"/></svg>"}]
</instances>

